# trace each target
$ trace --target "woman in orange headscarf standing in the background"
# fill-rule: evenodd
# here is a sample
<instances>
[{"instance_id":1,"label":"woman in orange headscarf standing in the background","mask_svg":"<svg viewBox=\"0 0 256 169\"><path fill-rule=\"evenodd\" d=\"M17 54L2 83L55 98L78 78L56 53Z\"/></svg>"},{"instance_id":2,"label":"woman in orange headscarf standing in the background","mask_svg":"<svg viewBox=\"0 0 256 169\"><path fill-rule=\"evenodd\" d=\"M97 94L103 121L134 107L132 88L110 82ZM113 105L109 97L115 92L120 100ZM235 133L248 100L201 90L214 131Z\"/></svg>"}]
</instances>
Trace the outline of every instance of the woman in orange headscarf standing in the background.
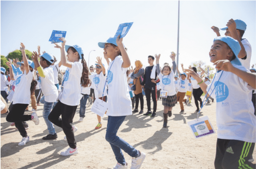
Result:
<instances>
[{"instance_id":1,"label":"woman in orange headscarf standing in the background","mask_svg":"<svg viewBox=\"0 0 256 169\"><path fill-rule=\"evenodd\" d=\"M142 114L144 100L143 100L142 88L140 83L143 82L144 69L142 68L143 64L139 60L135 61L135 66L136 68L134 69L134 72L131 74L131 79L134 79L134 85L136 85L136 90L134 90L136 102L135 102L135 109L132 111L132 113L139 112L138 106L139 106L139 99L140 99L140 114Z\"/></svg>"}]
</instances>

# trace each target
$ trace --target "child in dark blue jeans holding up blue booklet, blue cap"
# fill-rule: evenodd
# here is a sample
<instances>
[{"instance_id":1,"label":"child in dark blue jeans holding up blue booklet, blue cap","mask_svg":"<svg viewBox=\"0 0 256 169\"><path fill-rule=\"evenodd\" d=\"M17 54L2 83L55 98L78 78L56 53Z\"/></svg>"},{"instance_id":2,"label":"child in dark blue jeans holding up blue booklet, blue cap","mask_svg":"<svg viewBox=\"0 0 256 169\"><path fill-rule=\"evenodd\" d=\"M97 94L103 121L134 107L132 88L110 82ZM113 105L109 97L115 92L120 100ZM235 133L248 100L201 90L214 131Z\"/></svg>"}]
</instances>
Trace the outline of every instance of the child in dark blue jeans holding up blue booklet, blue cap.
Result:
<instances>
[{"instance_id":1,"label":"child in dark blue jeans holding up blue booklet, blue cap","mask_svg":"<svg viewBox=\"0 0 256 169\"><path fill-rule=\"evenodd\" d=\"M123 38L119 37L120 35L116 39L110 37L107 42L98 44L100 48L104 48L105 56L111 59L108 67L108 126L105 138L116 156L117 164L114 169L128 168L121 149L132 157L131 169L139 169L145 159L145 153L138 151L116 135L125 117L132 115L126 76L131 62L122 43Z\"/></svg>"}]
</instances>

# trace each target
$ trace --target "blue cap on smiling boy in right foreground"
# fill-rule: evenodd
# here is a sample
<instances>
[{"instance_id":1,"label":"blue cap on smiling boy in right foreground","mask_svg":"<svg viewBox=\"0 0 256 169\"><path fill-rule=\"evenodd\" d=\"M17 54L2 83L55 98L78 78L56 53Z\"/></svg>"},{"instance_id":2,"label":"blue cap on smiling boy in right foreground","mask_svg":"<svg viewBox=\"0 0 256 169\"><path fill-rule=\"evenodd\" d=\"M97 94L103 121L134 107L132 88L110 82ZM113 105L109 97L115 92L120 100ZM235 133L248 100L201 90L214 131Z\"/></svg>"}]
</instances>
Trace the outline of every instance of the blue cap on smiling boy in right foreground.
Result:
<instances>
[{"instance_id":1,"label":"blue cap on smiling boy in right foreground","mask_svg":"<svg viewBox=\"0 0 256 169\"><path fill-rule=\"evenodd\" d=\"M236 59L232 60L231 63L235 64L235 65L242 65L240 60L238 59L238 54L241 51L241 47L239 42L236 39L233 39L232 37L215 37L215 39L213 40L213 42L215 40L220 40L222 42L227 43L227 45L231 48L231 50L234 52L234 54L236 55Z\"/></svg>"}]
</instances>

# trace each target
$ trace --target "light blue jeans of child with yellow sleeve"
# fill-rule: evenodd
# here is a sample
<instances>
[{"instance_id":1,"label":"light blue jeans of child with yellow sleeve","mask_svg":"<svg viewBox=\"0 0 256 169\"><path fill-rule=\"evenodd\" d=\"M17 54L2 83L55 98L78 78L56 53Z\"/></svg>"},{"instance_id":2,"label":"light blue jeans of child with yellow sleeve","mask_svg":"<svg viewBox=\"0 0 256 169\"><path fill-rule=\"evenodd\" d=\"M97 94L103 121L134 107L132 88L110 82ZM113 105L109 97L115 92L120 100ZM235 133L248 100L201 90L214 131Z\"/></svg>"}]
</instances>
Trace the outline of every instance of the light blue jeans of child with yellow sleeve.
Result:
<instances>
[{"instance_id":1,"label":"light blue jeans of child with yellow sleeve","mask_svg":"<svg viewBox=\"0 0 256 169\"><path fill-rule=\"evenodd\" d=\"M52 135L54 135L56 132L55 132L55 128L53 127L52 122L48 120L48 116L49 116L49 114L52 111L53 103L54 102L44 101L44 110L43 110L44 121L45 121L45 123L47 125L47 129L49 131L49 134L52 134Z\"/></svg>"}]
</instances>

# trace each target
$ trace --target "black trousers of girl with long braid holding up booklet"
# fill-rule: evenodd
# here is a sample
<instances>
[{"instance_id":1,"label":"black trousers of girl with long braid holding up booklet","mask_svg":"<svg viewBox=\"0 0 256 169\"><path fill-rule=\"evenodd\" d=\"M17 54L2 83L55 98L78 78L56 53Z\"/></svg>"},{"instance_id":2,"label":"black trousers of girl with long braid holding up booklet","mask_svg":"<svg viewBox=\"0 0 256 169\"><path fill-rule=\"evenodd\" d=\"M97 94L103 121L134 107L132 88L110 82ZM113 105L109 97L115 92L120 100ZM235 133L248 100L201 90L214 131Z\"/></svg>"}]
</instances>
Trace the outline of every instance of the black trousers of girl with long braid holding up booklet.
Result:
<instances>
[{"instance_id":1,"label":"black trousers of girl with long braid holding up booklet","mask_svg":"<svg viewBox=\"0 0 256 169\"><path fill-rule=\"evenodd\" d=\"M67 137L67 143L73 149L76 148L75 135L72 130L72 123L76 113L76 108L77 106L69 106L58 101L48 116L49 121L63 129L63 132Z\"/></svg>"}]
</instances>

